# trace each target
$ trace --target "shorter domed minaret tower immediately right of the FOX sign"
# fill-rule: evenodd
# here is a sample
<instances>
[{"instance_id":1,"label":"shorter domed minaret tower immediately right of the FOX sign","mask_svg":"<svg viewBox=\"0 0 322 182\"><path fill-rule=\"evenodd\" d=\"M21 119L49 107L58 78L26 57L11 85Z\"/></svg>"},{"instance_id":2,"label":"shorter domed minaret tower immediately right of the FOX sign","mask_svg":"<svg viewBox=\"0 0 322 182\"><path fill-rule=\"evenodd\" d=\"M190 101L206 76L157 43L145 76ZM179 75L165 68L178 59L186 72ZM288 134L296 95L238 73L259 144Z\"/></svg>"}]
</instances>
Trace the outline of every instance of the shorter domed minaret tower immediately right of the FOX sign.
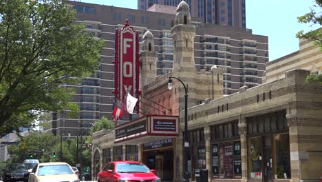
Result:
<instances>
[{"instance_id":1,"label":"shorter domed minaret tower immediately right of the FOX sign","mask_svg":"<svg viewBox=\"0 0 322 182\"><path fill-rule=\"evenodd\" d=\"M147 30L143 35L142 52L140 52L141 77L140 90L155 81L158 53L154 51L153 34Z\"/></svg>"}]
</instances>

